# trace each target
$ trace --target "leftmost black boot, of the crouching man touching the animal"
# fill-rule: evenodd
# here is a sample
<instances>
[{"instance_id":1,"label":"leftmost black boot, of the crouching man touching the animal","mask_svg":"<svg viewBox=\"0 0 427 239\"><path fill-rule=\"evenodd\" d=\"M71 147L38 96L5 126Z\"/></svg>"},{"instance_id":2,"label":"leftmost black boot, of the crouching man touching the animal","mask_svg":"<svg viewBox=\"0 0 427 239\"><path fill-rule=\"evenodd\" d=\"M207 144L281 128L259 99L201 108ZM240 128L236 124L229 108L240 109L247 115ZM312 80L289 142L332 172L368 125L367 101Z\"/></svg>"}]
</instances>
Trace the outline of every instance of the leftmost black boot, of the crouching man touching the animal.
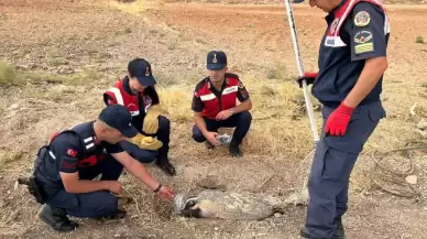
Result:
<instances>
[{"instance_id":1,"label":"leftmost black boot, of the crouching man touching the animal","mask_svg":"<svg viewBox=\"0 0 427 239\"><path fill-rule=\"evenodd\" d=\"M56 231L72 231L78 227L77 222L68 219L65 209L51 207L46 204L40 209L39 218Z\"/></svg>"}]
</instances>

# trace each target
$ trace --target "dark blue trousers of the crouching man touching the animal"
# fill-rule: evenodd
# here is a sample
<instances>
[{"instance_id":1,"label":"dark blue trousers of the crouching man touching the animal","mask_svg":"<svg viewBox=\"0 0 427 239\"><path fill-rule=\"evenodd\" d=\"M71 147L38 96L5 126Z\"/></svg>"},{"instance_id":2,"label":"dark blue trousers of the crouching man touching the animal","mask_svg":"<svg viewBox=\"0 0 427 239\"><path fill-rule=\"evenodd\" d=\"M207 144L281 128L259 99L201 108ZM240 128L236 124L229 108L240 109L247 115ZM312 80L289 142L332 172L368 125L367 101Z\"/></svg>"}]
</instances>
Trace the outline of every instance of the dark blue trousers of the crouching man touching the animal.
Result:
<instances>
[{"instance_id":1,"label":"dark blue trousers of the crouching man touching the animal","mask_svg":"<svg viewBox=\"0 0 427 239\"><path fill-rule=\"evenodd\" d=\"M117 181L122 170L123 165L111 155L107 155L95 169L79 173L79 176L80 180L94 180L102 174L101 181ZM70 194L65 189L59 189L56 195L51 196L46 204L52 207L64 208L70 216L88 218L109 216L118 208L118 199L109 191Z\"/></svg>"}]
</instances>

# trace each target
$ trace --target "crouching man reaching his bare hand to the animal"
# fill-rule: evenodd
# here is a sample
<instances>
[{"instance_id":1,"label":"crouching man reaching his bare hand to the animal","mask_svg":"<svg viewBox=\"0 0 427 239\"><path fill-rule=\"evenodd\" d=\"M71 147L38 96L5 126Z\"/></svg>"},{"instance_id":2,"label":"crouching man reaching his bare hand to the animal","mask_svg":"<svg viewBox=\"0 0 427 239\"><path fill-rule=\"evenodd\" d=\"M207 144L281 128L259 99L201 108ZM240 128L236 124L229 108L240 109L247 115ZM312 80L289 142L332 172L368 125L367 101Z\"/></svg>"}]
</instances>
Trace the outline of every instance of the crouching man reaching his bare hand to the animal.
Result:
<instances>
[{"instance_id":1,"label":"crouching man reaching his bare hand to the animal","mask_svg":"<svg viewBox=\"0 0 427 239\"><path fill-rule=\"evenodd\" d=\"M34 164L37 192L44 203L39 217L58 231L77 227L67 214L88 218L121 218L118 208L122 187L118 178L123 166L158 194L173 200L173 192L155 181L145 167L122 150L119 142L138 134L130 126L131 113L123 106L108 106L96 121L55 133L41 148ZM92 181L101 175L99 181ZM34 192L30 189L30 192Z\"/></svg>"}]
</instances>

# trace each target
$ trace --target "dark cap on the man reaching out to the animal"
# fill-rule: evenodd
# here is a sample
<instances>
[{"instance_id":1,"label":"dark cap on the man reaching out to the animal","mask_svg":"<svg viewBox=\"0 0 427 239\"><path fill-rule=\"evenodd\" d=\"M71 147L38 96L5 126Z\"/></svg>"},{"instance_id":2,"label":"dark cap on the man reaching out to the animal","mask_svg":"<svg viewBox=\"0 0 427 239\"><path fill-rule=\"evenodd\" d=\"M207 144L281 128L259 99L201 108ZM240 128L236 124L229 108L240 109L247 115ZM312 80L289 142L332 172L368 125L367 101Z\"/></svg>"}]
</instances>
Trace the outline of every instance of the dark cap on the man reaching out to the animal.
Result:
<instances>
[{"instance_id":1,"label":"dark cap on the man reaching out to the animal","mask_svg":"<svg viewBox=\"0 0 427 239\"><path fill-rule=\"evenodd\" d=\"M109 127L119 130L123 135L133 138L138 134L138 130L131 126L132 115L121 105L107 106L98 117Z\"/></svg>"}]
</instances>

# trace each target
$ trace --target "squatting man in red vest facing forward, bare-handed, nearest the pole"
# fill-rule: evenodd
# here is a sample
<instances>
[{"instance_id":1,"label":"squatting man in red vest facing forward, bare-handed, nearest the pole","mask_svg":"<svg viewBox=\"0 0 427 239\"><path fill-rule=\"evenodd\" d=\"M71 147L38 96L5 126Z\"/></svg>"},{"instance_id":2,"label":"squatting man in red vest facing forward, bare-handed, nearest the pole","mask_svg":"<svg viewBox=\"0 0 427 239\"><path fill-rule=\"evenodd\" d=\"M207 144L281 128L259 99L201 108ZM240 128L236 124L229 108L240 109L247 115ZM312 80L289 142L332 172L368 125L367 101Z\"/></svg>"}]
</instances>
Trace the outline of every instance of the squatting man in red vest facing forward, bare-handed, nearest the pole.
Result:
<instances>
[{"instance_id":1,"label":"squatting man in red vest facing forward, bare-handed, nearest the pole","mask_svg":"<svg viewBox=\"0 0 427 239\"><path fill-rule=\"evenodd\" d=\"M238 75L227 73L227 55L222 51L208 53L207 68L209 76L196 85L193 96L193 138L197 142L206 141L207 148L211 149L219 145L219 128L236 127L229 151L232 156L241 156L239 145L252 121L249 93Z\"/></svg>"}]
</instances>

